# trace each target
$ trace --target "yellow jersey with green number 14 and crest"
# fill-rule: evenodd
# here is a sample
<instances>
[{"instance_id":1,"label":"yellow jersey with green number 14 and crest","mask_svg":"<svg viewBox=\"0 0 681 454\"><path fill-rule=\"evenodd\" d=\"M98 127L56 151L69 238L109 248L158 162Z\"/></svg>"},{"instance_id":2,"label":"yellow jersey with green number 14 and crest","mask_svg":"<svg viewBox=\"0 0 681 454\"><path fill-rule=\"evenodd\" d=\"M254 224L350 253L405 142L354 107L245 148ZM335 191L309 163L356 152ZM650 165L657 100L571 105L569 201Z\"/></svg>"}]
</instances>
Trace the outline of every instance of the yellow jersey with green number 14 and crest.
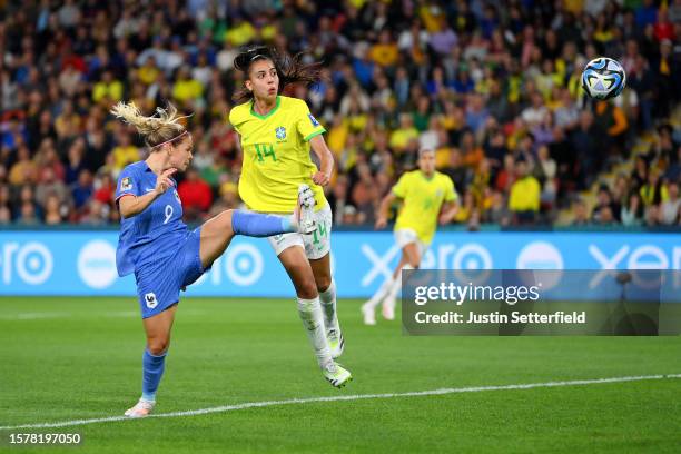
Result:
<instances>
[{"instance_id":1,"label":"yellow jersey with green number 14 and crest","mask_svg":"<svg viewBox=\"0 0 681 454\"><path fill-rule=\"evenodd\" d=\"M302 182L315 193L316 209L326 207L324 190L312 180L318 169L309 156L309 140L326 129L305 101L277 96L275 108L264 116L253 101L245 102L231 109L229 122L241 139L239 196L249 209L293 213Z\"/></svg>"}]
</instances>

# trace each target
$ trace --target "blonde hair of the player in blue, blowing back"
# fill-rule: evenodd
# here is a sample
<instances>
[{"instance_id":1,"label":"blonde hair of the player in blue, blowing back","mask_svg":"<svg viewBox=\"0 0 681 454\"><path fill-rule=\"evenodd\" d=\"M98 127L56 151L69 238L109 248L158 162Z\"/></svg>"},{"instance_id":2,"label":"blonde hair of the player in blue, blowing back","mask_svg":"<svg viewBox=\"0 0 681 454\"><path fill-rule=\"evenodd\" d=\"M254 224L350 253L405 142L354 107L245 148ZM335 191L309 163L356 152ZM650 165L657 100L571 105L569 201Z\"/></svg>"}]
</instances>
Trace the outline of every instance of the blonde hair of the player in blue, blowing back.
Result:
<instances>
[{"instance_id":1,"label":"blonde hair of the player in blue, blowing back","mask_svg":"<svg viewBox=\"0 0 681 454\"><path fill-rule=\"evenodd\" d=\"M135 102L118 102L111 109L111 114L135 126L151 148L175 140L187 132L179 120L188 116L178 116L177 109L170 102L167 109L157 107L156 114L151 117L145 117Z\"/></svg>"}]
</instances>

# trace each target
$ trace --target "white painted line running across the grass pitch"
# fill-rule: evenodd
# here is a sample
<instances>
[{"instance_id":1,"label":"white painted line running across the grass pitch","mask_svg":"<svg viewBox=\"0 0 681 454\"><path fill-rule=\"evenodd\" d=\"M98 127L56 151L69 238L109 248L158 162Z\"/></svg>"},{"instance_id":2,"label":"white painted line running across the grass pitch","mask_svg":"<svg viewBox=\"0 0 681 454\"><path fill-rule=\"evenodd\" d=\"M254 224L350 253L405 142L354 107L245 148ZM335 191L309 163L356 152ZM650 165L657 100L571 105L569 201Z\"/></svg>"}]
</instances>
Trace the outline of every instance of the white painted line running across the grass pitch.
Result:
<instances>
[{"instance_id":1,"label":"white painted line running across the grass pitch","mask_svg":"<svg viewBox=\"0 0 681 454\"><path fill-rule=\"evenodd\" d=\"M540 387L559 387L559 386L579 386L579 385L598 385L603 383L621 383L621 382L642 382L647 379L665 379L665 378L681 378L681 374L665 374L665 375L641 375L631 377L611 377L611 378L594 378L594 379L573 379L568 382L546 382L546 383L526 383L519 385L499 385L499 386L471 386L460 388L440 388L431 391L413 391L408 393L388 393L388 394L354 394L348 396L327 396L327 397L308 397L308 398L292 398L286 401L265 401L265 402L246 402L243 404L224 405L211 408L189 409L185 412L172 412L172 413L159 413L148 417L181 417L181 416L196 416L205 415L208 413L225 413L235 409L246 408L260 408L276 405L290 405L290 404L309 404L316 402L339 402L339 401L361 401L368 398L394 398L394 397L417 397L417 396L434 396L443 394L457 394L457 393L478 393L483 391L511 391L511 389L532 389ZM48 428L48 427L68 427L85 424L95 423L107 423L116 421L129 421L127 416L108 416L108 417L96 417L91 420L73 420L73 421L61 421L56 423L39 423L39 424L22 424L16 426L1 426L0 431L13 431L17 428Z\"/></svg>"}]
</instances>

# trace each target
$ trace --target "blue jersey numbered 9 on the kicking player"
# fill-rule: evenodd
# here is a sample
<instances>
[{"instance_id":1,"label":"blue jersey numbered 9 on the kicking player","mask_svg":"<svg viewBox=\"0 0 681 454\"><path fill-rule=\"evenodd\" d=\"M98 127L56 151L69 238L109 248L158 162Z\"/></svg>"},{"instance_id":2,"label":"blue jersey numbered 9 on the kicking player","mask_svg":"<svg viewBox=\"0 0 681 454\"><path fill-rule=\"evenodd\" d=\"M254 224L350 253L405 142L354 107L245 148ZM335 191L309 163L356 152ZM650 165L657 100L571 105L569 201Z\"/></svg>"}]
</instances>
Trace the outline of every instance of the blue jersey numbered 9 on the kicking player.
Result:
<instances>
[{"instance_id":1,"label":"blue jersey numbered 9 on the kicking player","mask_svg":"<svg viewBox=\"0 0 681 454\"><path fill-rule=\"evenodd\" d=\"M156 174L145 161L127 166L118 177L116 203L126 195L144 196L156 187ZM142 265L161 263L177 253L187 237L182 205L175 187L169 188L144 211L120 221L116 250L118 275L125 276Z\"/></svg>"}]
</instances>

